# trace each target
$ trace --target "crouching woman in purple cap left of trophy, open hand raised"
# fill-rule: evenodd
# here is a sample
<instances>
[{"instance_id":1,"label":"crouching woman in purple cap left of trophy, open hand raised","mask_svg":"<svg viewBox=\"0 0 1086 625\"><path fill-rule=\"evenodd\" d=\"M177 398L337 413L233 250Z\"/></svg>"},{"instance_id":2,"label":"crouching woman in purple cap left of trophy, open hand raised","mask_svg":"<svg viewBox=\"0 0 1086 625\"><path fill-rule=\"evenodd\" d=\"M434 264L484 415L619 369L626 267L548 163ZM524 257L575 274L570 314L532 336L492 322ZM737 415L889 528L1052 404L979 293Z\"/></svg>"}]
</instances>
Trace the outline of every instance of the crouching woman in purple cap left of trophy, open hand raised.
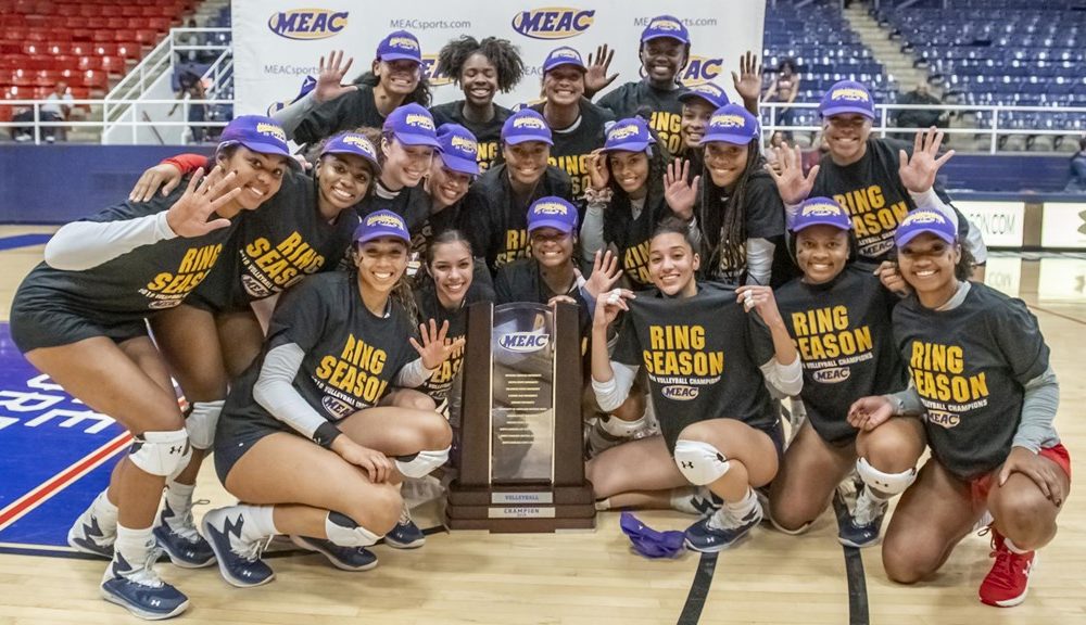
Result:
<instances>
[{"instance_id":1,"label":"crouching woman in purple cap left of trophy, open hand raised","mask_svg":"<svg viewBox=\"0 0 1086 625\"><path fill-rule=\"evenodd\" d=\"M403 218L374 213L354 239L356 271L315 276L282 297L223 410L215 468L242 503L207 512L203 530L235 586L272 581L260 553L275 534L339 569L372 567L365 547L400 519L402 477L449 457L441 414L375 406L393 385L421 384L463 341L446 343L447 324L432 322L417 341L390 301L407 267Z\"/></svg>"}]
</instances>

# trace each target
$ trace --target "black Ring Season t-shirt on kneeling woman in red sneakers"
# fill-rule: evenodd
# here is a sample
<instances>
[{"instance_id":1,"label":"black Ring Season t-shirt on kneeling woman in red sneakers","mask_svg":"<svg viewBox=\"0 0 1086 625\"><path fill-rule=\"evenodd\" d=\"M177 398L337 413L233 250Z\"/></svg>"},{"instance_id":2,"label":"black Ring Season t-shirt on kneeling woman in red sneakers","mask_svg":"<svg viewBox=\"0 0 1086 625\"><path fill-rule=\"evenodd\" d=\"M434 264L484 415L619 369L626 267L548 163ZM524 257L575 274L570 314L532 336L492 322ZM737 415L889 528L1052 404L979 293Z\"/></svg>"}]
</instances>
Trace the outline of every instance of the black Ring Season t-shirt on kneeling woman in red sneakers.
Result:
<instances>
[{"instance_id":1,"label":"black Ring Season t-shirt on kneeling woman in red sneakers","mask_svg":"<svg viewBox=\"0 0 1086 625\"><path fill-rule=\"evenodd\" d=\"M894 310L894 337L926 408L932 455L963 480L1001 464L1024 385L1048 369L1048 345L1025 303L976 282L951 310L909 296Z\"/></svg>"}]
</instances>

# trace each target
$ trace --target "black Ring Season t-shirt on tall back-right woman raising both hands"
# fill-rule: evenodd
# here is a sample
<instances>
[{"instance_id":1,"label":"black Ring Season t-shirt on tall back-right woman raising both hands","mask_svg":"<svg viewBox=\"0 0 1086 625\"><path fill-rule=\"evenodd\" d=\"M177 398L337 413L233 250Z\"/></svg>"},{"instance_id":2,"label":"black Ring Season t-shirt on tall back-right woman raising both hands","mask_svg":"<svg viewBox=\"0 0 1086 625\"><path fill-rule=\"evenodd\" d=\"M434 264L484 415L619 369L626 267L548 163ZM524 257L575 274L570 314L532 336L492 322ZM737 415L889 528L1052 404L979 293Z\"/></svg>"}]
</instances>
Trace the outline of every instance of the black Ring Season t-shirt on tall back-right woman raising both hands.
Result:
<instances>
[{"instance_id":1,"label":"black Ring Season t-shirt on tall back-right woman raising both hands","mask_svg":"<svg viewBox=\"0 0 1086 625\"><path fill-rule=\"evenodd\" d=\"M898 150L912 154L912 143L896 139L868 139L863 157L841 167L826 154L819 161L818 177L810 196L833 197L853 217L853 228L859 242L860 258L885 260L894 247L894 232L905 216L917 206L898 174ZM949 196L938 183L935 192L944 202ZM959 216L959 231L969 229Z\"/></svg>"}]
</instances>

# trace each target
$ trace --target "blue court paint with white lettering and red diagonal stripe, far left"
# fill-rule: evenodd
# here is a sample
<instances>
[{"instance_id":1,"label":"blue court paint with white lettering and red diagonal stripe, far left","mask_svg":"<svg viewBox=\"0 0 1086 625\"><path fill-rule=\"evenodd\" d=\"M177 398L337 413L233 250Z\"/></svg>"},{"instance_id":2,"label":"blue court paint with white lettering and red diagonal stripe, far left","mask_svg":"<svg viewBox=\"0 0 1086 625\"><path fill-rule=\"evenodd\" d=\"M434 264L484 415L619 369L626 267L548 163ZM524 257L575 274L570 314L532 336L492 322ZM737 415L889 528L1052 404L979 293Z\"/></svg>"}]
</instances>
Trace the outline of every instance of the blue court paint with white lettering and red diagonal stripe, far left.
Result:
<instances>
[{"instance_id":1,"label":"blue court paint with white lettering and red diagonal stripe, far left","mask_svg":"<svg viewBox=\"0 0 1086 625\"><path fill-rule=\"evenodd\" d=\"M71 552L68 527L105 488L128 441L34 369L0 323L0 552Z\"/></svg>"}]
</instances>

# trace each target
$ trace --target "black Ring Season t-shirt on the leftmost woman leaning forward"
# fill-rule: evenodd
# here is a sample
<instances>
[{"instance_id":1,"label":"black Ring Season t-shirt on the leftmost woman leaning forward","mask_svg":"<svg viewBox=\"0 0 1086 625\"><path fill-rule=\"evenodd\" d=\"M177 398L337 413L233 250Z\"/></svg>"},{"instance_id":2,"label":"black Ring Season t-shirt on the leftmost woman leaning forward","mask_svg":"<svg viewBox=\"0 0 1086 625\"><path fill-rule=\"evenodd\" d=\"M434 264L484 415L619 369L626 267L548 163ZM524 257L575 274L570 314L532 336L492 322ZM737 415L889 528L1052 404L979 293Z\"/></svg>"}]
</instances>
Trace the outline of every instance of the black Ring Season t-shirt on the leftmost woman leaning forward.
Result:
<instances>
[{"instance_id":1,"label":"black Ring Season t-shirt on the leftmost woman leaning forward","mask_svg":"<svg viewBox=\"0 0 1086 625\"><path fill-rule=\"evenodd\" d=\"M186 176L166 196L126 201L81 221L125 221L168 211L185 194L188 180ZM181 304L207 277L238 224L249 217L252 215L242 213L231 219L230 227L201 237L175 237L140 245L81 271L54 269L41 263L23 280L20 291L24 296L31 289L35 297L55 296L73 311L104 324L138 321Z\"/></svg>"}]
</instances>

